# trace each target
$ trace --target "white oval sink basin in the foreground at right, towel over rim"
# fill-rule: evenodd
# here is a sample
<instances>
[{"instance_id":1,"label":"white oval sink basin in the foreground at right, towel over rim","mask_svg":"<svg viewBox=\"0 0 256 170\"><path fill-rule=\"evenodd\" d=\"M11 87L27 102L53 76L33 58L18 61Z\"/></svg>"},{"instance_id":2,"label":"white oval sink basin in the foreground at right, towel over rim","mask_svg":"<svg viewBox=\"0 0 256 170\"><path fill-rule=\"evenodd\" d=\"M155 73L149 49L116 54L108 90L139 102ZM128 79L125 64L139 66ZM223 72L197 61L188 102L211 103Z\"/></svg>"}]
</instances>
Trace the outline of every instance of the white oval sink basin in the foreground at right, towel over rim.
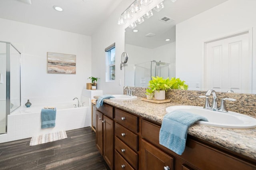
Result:
<instances>
[{"instance_id":1,"label":"white oval sink basin in the foreground at right, towel over rim","mask_svg":"<svg viewBox=\"0 0 256 170\"><path fill-rule=\"evenodd\" d=\"M219 111L211 111L208 109L203 109L199 106L171 106L166 108L166 113L174 110L187 111L189 113L194 113L196 115L201 115L208 119L206 121L197 121L196 123L202 125L209 125L214 127L224 127L224 128L255 128L256 119L253 117L243 115L240 113L228 111L226 113Z\"/></svg>"}]
</instances>

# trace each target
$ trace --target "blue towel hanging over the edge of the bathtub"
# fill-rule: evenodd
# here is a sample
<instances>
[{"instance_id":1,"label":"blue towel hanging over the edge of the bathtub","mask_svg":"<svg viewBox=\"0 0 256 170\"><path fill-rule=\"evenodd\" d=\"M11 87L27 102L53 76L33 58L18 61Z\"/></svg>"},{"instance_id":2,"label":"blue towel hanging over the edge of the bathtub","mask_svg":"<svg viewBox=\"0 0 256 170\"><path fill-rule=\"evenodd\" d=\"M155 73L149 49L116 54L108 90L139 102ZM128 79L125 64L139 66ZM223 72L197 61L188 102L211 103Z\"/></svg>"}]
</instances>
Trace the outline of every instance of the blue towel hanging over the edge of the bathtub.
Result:
<instances>
[{"instance_id":1,"label":"blue towel hanging over the edge of the bathtub","mask_svg":"<svg viewBox=\"0 0 256 170\"><path fill-rule=\"evenodd\" d=\"M56 108L41 110L41 128L55 127Z\"/></svg>"}]
</instances>

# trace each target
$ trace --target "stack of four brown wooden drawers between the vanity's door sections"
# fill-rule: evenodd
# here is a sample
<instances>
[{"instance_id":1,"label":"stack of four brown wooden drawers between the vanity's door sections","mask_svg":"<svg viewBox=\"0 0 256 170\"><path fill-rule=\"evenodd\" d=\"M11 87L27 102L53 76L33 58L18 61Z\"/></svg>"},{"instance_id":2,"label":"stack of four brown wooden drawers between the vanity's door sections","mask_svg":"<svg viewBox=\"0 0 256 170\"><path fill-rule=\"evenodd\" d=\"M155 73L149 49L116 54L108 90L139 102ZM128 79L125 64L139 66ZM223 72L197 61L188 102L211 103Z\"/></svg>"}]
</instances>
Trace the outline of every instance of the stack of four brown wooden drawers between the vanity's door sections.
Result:
<instances>
[{"instance_id":1,"label":"stack of four brown wooden drawers between the vanity's door sections","mask_svg":"<svg viewBox=\"0 0 256 170\"><path fill-rule=\"evenodd\" d=\"M138 169L139 118L115 109L115 169Z\"/></svg>"}]
</instances>

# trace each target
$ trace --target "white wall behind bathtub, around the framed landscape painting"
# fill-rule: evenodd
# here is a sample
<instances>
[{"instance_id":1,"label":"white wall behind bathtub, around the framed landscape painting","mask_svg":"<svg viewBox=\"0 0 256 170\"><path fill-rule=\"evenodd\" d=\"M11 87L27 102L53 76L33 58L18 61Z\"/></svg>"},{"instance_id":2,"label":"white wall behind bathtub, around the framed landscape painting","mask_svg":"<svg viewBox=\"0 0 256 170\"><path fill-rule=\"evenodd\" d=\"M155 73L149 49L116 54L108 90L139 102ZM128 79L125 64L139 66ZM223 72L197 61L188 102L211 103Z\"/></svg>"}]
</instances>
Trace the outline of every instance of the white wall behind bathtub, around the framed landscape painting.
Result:
<instances>
[{"instance_id":1,"label":"white wall behind bathtub, around the framed landscape painting","mask_svg":"<svg viewBox=\"0 0 256 170\"><path fill-rule=\"evenodd\" d=\"M0 18L0 40L22 53L22 105L80 97L91 74L91 37ZM48 74L47 52L76 55L76 74Z\"/></svg>"}]
</instances>

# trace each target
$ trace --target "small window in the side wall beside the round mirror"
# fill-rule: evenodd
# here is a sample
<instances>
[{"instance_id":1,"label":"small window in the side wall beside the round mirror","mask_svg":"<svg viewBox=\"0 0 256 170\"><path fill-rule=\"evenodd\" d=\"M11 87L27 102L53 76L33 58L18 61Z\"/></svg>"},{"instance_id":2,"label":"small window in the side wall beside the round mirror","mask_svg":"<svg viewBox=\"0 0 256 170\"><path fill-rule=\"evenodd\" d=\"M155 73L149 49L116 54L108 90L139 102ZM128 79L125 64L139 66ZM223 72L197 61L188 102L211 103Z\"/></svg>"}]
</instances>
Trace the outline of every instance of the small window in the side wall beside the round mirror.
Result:
<instances>
[{"instance_id":1,"label":"small window in the side wall beside the round mirror","mask_svg":"<svg viewBox=\"0 0 256 170\"><path fill-rule=\"evenodd\" d=\"M116 79L116 48L115 43L106 47L106 81Z\"/></svg>"}]
</instances>

